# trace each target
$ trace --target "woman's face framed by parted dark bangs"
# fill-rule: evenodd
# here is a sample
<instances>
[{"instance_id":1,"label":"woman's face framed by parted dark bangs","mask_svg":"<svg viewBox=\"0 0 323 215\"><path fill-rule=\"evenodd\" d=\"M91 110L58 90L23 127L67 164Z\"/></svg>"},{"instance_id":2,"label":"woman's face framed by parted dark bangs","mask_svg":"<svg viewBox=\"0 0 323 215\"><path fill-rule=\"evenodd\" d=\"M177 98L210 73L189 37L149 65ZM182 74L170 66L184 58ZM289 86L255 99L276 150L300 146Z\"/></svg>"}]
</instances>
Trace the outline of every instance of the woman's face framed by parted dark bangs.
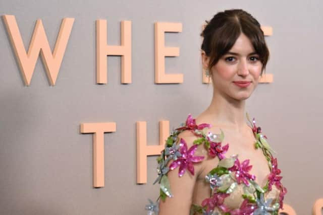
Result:
<instances>
[{"instance_id":1,"label":"woman's face framed by parted dark bangs","mask_svg":"<svg viewBox=\"0 0 323 215\"><path fill-rule=\"evenodd\" d=\"M208 63L208 59L205 58L203 63L206 61ZM245 100L257 87L261 68L259 55L255 53L249 38L241 33L230 51L211 68L213 88L223 96ZM237 82L240 81L250 84L239 86Z\"/></svg>"}]
</instances>

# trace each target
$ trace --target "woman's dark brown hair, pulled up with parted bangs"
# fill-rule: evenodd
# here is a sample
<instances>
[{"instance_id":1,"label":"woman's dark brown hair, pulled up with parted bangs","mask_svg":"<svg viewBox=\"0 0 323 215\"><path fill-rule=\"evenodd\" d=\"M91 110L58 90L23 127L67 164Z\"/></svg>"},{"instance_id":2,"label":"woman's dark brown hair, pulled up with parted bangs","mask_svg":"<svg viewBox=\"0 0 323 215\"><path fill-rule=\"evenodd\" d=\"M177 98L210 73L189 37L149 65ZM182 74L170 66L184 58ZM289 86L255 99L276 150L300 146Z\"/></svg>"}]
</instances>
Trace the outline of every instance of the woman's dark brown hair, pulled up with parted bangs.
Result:
<instances>
[{"instance_id":1,"label":"woman's dark brown hair, pulled up with parted bangs","mask_svg":"<svg viewBox=\"0 0 323 215\"><path fill-rule=\"evenodd\" d=\"M201 33L201 49L210 57L209 70L232 48L240 34L244 33L259 55L262 75L270 53L260 24L254 17L241 9L232 9L219 12L210 21L205 22L207 25Z\"/></svg>"}]
</instances>

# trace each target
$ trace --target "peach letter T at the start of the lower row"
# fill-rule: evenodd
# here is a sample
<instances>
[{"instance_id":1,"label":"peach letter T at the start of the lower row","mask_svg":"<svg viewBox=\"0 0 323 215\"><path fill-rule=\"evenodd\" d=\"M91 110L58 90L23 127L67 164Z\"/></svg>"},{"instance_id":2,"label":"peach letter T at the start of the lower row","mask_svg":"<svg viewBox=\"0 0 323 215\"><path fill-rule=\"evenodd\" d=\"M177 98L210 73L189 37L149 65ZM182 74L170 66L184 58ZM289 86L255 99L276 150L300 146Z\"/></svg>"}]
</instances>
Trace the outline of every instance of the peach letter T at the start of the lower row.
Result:
<instances>
[{"instance_id":1,"label":"peach letter T at the start of the lower row","mask_svg":"<svg viewBox=\"0 0 323 215\"><path fill-rule=\"evenodd\" d=\"M115 132L115 122L82 123L81 133L93 134L93 186L104 187L104 132Z\"/></svg>"}]
</instances>

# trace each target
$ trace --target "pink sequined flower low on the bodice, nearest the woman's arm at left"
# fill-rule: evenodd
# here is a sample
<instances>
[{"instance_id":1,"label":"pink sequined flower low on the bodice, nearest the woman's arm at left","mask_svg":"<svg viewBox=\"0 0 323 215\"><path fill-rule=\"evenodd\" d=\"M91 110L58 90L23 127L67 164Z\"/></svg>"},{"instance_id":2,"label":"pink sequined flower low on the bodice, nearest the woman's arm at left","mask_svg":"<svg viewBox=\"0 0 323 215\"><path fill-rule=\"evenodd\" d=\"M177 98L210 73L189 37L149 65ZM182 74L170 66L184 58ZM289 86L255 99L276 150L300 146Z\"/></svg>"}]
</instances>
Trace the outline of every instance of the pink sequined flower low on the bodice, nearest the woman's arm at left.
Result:
<instances>
[{"instance_id":1,"label":"pink sequined flower low on the bodice, nearest the woman's arm at left","mask_svg":"<svg viewBox=\"0 0 323 215\"><path fill-rule=\"evenodd\" d=\"M224 200L228 197L229 193L214 193L210 198L202 201L202 207L206 206L206 212L210 212L215 207L219 207L223 212L229 212L229 208L224 204Z\"/></svg>"}]
</instances>

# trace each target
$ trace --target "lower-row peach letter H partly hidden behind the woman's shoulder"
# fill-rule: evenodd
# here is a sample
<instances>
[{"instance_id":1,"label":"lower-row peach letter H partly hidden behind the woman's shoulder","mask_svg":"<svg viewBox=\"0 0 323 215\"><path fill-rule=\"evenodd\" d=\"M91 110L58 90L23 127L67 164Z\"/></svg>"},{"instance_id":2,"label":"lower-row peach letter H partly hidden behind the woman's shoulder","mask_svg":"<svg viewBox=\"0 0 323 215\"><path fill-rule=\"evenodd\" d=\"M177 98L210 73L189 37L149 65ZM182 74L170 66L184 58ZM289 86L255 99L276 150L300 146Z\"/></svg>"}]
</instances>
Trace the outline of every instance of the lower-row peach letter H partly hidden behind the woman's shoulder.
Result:
<instances>
[{"instance_id":1,"label":"lower-row peach letter H partly hidden behind the woman's shoulder","mask_svg":"<svg viewBox=\"0 0 323 215\"><path fill-rule=\"evenodd\" d=\"M159 122L159 145L147 146L147 128L145 121L136 123L137 130L137 183L147 183L147 156L160 155L169 136L170 122Z\"/></svg>"}]
</instances>

